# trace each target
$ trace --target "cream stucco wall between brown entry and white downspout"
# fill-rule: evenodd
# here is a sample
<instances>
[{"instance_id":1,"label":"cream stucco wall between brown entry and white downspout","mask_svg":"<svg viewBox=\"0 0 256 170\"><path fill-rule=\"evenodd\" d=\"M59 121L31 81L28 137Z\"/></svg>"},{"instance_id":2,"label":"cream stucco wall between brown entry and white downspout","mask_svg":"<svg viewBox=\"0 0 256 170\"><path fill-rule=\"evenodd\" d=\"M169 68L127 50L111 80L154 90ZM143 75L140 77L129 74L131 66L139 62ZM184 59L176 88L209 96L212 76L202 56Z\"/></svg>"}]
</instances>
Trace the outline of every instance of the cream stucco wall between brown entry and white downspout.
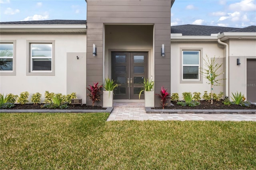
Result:
<instances>
[{"instance_id":1,"label":"cream stucco wall between brown entry and white downspout","mask_svg":"<svg viewBox=\"0 0 256 170\"><path fill-rule=\"evenodd\" d=\"M208 81L205 78L203 78L203 83L180 83L180 67L182 66L180 48L202 49L202 55L205 59L206 55L208 55L209 58L214 56L216 58L220 57L220 59L217 60L218 63L222 63L225 60L225 48L218 42L171 42L171 89L168 89L168 91L170 93L178 93L180 100L182 100L183 92L200 92L202 95L204 91L210 93L210 85L207 84ZM224 71L223 65L222 70ZM204 67L205 66L203 66L203 68ZM223 78L223 76L220 78ZM223 82L223 84L224 83L225 82ZM225 93L224 89L224 86L214 86L214 93L218 94L220 91Z\"/></svg>"}]
</instances>

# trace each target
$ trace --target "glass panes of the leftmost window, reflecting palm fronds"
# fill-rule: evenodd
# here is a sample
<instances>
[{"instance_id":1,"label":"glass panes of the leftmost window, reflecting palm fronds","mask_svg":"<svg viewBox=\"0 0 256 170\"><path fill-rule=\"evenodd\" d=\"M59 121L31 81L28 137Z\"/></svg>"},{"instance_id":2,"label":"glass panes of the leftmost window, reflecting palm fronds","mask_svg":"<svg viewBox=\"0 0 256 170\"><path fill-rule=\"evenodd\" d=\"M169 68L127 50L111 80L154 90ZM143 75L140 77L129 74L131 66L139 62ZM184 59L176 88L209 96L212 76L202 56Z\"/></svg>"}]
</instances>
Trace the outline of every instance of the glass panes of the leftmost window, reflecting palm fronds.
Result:
<instances>
[{"instance_id":1,"label":"glass panes of the leftmost window, reflecting palm fronds","mask_svg":"<svg viewBox=\"0 0 256 170\"><path fill-rule=\"evenodd\" d=\"M13 43L0 43L0 70L13 70Z\"/></svg>"}]
</instances>

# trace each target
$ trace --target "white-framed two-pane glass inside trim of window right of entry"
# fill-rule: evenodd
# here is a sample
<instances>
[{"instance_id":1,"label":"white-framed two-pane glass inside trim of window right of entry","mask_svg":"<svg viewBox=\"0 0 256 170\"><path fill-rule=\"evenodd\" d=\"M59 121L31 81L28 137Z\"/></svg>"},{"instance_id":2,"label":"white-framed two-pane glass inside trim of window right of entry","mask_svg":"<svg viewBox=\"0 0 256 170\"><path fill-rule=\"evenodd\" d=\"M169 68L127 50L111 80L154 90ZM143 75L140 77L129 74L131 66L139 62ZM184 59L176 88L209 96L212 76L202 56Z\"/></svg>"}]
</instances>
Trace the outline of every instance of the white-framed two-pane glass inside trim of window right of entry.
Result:
<instances>
[{"instance_id":1,"label":"white-framed two-pane glass inside trim of window right of entry","mask_svg":"<svg viewBox=\"0 0 256 170\"><path fill-rule=\"evenodd\" d=\"M182 51L182 79L199 80L199 51Z\"/></svg>"}]
</instances>

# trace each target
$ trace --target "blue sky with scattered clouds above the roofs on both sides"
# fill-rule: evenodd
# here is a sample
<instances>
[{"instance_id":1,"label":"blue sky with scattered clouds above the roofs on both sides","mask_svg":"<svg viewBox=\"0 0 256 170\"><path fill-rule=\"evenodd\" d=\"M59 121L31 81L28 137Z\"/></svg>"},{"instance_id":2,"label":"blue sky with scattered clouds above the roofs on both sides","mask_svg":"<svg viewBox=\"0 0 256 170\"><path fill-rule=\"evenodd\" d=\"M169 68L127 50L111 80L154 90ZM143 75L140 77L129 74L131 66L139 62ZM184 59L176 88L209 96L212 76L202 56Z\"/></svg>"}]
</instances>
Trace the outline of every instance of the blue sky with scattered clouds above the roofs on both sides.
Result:
<instances>
[{"instance_id":1,"label":"blue sky with scattered clouds above the roofs on both sides","mask_svg":"<svg viewBox=\"0 0 256 170\"><path fill-rule=\"evenodd\" d=\"M85 0L0 0L0 22L86 20ZM175 0L171 26L256 26L256 0Z\"/></svg>"}]
</instances>

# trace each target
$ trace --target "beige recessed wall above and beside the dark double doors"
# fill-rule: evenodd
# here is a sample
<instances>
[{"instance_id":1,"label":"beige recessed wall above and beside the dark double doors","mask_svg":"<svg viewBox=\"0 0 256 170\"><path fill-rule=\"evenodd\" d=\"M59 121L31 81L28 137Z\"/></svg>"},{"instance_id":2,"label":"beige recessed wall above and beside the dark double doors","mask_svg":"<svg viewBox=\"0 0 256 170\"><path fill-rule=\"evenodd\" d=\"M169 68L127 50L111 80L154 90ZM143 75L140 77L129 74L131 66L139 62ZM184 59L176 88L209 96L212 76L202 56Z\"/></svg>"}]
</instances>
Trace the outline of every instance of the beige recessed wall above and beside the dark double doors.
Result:
<instances>
[{"instance_id":1,"label":"beige recessed wall above and beside the dark double doors","mask_svg":"<svg viewBox=\"0 0 256 170\"><path fill-rule=\"evenodd\" d=\"M111 77L111 51L148 51L148 77L154 78L153 25L106 25L104 75Z\"/></svg>"}]
</instances>

